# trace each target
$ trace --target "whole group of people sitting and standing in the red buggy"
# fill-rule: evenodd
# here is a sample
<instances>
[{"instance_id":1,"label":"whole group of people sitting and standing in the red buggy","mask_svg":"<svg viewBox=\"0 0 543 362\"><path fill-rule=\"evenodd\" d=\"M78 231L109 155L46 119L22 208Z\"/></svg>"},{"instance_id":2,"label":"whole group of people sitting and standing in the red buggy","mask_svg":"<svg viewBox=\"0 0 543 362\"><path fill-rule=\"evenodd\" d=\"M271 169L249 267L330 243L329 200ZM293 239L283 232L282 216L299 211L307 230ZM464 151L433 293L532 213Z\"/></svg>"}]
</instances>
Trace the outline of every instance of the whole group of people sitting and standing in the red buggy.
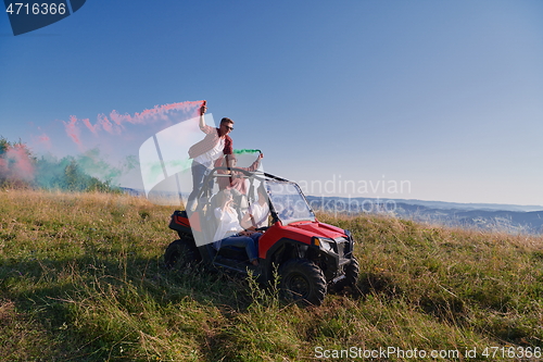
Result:
<instances>
[{"instance_id":1,"label":"whole group of people sitting and standing in the red buggy","mask_svg":"<svg viewBox=\"0 0 543 362\"><path fill-rule=\"evenodd\" d=\"M225 117L218 128L207 126L205 111L204 102L200 109L199 126L205 137L189 150L193 190L186 210L191 214L206 209L207 225L216 225L212 239L217 251L226 247L244 249L249 262L258 265L257 241L262 233L256 229L267 226L268 196L263 182L254 192L254 179L250 183L248 177L258 170L263 154L260 153L249 167L238 167L229 136L233 121ZM218 192L214 192L216 188ZM209 234L206 239L211 237Z\"/></svg>"}]
</instances>

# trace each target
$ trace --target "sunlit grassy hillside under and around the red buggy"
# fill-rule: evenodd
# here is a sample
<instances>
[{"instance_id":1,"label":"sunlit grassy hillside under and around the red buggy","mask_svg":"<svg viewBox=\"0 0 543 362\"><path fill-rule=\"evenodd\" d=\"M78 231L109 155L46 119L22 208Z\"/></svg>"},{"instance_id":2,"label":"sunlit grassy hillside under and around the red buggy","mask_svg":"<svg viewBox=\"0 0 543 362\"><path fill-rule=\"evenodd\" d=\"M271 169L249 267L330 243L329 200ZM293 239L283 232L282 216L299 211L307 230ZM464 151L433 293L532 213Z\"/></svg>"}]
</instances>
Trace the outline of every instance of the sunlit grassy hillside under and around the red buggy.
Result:
<instances>
[{"instance_id":1,"label":"sunlit grassy hillside under and around the red buggy","mask_svg":"<svg viewBox=\"0 0 543 362\"><path fill-rule=\"evenodd\" d=\"M0 360L543 354L543 238L319 215L362 241L359 290L301 309L250 279L165 271L171 213L119 195L0 191Z\"/></svg>"}]
</instances>

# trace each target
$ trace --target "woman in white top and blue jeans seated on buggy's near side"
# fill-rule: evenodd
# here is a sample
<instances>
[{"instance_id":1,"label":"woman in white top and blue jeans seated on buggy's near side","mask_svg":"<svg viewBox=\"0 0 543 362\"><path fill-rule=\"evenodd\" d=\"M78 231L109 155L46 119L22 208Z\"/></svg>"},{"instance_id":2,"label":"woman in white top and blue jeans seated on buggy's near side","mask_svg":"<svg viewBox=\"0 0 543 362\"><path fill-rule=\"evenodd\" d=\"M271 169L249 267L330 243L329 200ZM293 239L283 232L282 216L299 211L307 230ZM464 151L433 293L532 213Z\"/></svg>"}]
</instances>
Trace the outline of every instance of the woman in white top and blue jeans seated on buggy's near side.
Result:
<instances>
[{"instance_id":1,"label":"woman in white top and blue jeans seated on buggy's near side","mask_svg":"<svg viewBox=\"0 0 543 362\"><path fill-rule=\"evenodd\" d=\"M226 246L244 248L251 264L258 265L257 241L262 234L241 227L238 212L232 207L233 198L230 190L220 191L219 201L220 205L214 210L218 226L213 246L216 250Z\"/></svg>"}]
</instances>

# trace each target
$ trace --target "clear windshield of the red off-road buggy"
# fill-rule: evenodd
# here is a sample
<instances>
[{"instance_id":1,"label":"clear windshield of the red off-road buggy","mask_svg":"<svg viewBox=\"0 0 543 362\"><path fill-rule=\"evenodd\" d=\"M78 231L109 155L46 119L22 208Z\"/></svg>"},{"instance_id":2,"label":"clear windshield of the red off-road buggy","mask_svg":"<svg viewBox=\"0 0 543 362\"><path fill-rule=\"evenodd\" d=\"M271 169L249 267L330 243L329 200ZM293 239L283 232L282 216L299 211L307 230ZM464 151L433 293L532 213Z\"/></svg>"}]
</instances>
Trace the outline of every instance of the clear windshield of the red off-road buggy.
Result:
<instances>
[{"instance_id":1,"label":"clear windshield of the red off-road buggy","mask_svg":"<svg viewBox=\"0 0 543 362\"><path fill-rule=\"evenodd\" d=\"M299 221L315 221L315 214L296 184L277 180L267 180L266 184L272 204L283 225Z\"/></svg>"}]
</instances>

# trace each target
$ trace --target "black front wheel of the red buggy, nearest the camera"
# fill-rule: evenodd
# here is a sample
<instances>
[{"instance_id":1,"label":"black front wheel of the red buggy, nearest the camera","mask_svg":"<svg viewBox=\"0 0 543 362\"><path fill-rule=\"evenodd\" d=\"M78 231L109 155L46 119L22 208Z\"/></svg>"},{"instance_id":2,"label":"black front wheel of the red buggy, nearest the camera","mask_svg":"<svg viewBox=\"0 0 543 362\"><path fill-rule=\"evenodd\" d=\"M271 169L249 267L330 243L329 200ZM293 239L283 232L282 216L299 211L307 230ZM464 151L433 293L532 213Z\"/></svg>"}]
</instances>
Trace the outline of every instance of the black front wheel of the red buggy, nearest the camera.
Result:
<instances>
[{"instance_id":1,"label":"black front wheel of the red buggy, nearest the camera","mask_svg":"<svg viewBox=\"0 0 543 362\"><path fill-rule=\"evenodd\" d=\"M292 259L279 267L279 291L289 302L320 305L326 296L323 271L308 260Z\"/></svg>"}]
</instances>

